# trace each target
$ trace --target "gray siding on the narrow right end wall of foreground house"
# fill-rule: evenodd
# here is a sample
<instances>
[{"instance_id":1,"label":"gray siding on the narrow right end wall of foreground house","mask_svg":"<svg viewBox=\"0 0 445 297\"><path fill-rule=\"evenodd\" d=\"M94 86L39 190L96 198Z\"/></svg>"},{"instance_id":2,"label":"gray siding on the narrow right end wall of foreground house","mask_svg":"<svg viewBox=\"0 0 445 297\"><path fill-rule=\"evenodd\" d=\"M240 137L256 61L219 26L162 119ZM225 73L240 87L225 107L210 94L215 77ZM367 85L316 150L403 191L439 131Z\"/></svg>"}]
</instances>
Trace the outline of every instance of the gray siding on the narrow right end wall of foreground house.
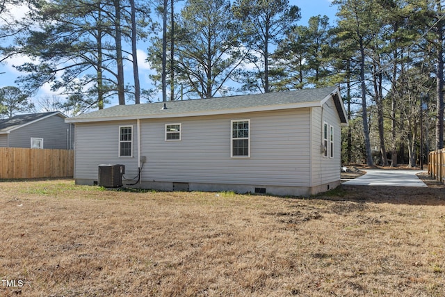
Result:
<instances>
[{"instance_id":1,"label":"gray siding on the narrow right end wall of foreground house","mask_svg":"<svg viewBox=\"0 0 445 297\"><path fill-rule=\"evenodd\" d=\"M332 99L321 107L312 108L312 185L327 184L340 180L341 126ZM334 157L323 156L323 123L334 127ZM329 145L329 139L328 139Z\"/></svg>"}]
</instances>

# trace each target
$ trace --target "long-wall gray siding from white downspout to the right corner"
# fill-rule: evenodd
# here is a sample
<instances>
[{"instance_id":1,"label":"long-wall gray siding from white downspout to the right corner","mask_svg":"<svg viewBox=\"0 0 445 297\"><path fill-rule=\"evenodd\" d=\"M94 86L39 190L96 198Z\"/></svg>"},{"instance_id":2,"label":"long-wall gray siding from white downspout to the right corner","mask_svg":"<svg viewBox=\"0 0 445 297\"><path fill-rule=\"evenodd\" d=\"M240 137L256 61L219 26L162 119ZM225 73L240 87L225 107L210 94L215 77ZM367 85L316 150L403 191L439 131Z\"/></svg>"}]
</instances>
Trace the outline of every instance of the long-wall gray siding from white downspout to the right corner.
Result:
<instances>
[{"instance_id":1,"label":"long-wall gray siding from white downspout to the right corner","mask_svg":"<svg viewBox=\"0 0 445 297\"><path fill-rule=\"evenodd\" d=\"M142 179L307 186L308 110L142 121ZM250 158L230 156L231 120L250 120ZM182 140L163 141L165 124L178 122Z\"/></svg>"}]
</instances>

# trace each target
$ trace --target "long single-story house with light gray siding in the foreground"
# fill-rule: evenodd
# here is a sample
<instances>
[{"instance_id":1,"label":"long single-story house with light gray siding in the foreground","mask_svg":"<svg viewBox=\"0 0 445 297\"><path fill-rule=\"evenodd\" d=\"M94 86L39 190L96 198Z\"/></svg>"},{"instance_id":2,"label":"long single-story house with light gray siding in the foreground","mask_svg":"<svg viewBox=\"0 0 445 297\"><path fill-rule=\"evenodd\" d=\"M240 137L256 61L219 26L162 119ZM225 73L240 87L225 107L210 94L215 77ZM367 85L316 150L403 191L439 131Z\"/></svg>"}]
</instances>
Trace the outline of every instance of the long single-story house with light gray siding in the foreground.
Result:
<instances>
[{"instance_id":1,"label":"long single-story house with light gray siding in the foreground","mask_svg":"<svg viewBox=\"0 0 445 297\"><path fill-rule=\"evenodd\" d=\"M338 186L348 124L337 87L113 106L65 122L76 126L76 184L97 184L108 163L140 188L276 195Z\"/></svg>"}]
</instances>

